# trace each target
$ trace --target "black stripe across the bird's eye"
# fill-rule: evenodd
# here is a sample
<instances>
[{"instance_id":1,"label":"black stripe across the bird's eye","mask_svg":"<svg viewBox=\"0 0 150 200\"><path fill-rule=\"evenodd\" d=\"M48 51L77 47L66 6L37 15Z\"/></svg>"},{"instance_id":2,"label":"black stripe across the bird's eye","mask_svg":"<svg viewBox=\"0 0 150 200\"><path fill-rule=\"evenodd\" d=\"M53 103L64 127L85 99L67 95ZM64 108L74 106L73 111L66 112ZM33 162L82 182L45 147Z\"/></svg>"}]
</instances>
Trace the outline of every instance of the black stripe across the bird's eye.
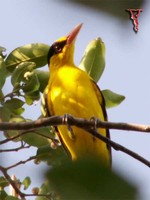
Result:
<instances>
[{"instance_id":1,"label":"black stripe across the bird's eye","mask_svg":"<svg viewBox=\"0 0 150 200\"><path fill-rule=\"evenodd\" d=\"M62 42L55 42L49 49L48 55L47 55L47 59L48 59L48 64L50 63L50 59L54 54L58 54L61 53L63 50L63 47L66 44L66 40L62 41Z\"/></svg>"}]
</instances>

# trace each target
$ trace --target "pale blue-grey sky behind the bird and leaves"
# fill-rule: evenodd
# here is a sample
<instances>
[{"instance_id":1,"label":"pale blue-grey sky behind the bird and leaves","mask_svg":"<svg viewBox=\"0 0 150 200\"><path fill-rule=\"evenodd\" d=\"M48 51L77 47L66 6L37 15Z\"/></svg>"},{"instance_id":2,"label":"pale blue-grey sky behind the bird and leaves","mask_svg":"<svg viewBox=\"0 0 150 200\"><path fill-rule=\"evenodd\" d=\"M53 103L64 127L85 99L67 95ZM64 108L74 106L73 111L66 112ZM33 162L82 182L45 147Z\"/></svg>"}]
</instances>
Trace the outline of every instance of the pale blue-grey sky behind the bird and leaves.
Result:
<instances>
[{"instance_id":1,"label":"pale blue-grey sky behind the bird and leaves","mask_svg":"<svg viewBox=\"0 0 150 200\"><path fill-rule=\"evenodd\" d=\"M1 1L0 46L5 47L9 53L14 48L29 43L42 42L50 45L69 33L76 24L83 22L76 41L75 63L79 64L86 45L92 39L101 37L106 46L106 68L98 85L101 89L111 89L126 97L121 105L108 109L109 121L149 124L149 8L150 1L147 1L139 17L139 32L135 34L129 16L129 20L121 21L105 12L70 4L68 1ZM5 92L10 92L9 85ZM25 117L36 119L40 115L39 107L40 102L36 106L36 114L27 109ZM150 133L111 130L111 138L150 160ZM33 155L33 152L26 150L26 155L21 155L21 159ZM17 156L7 154L3 161L6 165L15 163L20 159ZM32 174L35 170L40 174L45 167L44 164L42 168L32 163L27 164L28 171ZM137 199L150 199L148 167L122 152L113 150L113 170L138 187ZM21 167L17 169L17 173L21 176ZM26 173L24 172L24 176ZM33 184L39 179L35 174Z\"/></svg>"}]
</instances>

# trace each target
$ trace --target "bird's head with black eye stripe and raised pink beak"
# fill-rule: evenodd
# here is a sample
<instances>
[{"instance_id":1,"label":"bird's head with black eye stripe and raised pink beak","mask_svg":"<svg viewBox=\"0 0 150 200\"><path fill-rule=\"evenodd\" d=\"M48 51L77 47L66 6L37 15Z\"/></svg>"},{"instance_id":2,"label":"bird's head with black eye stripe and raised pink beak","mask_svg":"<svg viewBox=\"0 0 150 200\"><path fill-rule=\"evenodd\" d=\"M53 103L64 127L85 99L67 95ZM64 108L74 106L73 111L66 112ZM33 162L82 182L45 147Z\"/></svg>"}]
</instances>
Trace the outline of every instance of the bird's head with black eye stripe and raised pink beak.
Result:
<instances>
[{"instance_id":1,"label":"bird's head with black eye stripe and raised pink beak","mask_svg":"<svg viewBox=\"0 0 150 200\"><path fill-rule=\"evenodd\" d=\"M74 63L74 43L81 27L82 24L77 25L67 36L59 38L51 45L48 52L49 66L59 67Z\"/></svg>"}]
</instances>

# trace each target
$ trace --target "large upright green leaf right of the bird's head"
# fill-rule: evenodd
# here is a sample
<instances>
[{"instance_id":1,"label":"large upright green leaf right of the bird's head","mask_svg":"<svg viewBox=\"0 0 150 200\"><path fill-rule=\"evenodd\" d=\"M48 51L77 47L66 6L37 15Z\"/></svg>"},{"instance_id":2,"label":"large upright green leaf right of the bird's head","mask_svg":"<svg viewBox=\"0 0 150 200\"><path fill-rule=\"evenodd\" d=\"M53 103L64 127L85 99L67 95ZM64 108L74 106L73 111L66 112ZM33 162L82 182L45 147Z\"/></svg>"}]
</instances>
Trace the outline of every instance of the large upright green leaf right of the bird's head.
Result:
<instances>
[{"instance_id":1,"label":"large upright green leaf right of the bird's head","mask_svg":"<svg viewBox=\"0 0 150 200\"><path fill-rule=\"evenodd\" d=\"M105 45L101 38L91 41L85 49L79 68L97 82L105 68Z\"/></svg>"}]
</instances>

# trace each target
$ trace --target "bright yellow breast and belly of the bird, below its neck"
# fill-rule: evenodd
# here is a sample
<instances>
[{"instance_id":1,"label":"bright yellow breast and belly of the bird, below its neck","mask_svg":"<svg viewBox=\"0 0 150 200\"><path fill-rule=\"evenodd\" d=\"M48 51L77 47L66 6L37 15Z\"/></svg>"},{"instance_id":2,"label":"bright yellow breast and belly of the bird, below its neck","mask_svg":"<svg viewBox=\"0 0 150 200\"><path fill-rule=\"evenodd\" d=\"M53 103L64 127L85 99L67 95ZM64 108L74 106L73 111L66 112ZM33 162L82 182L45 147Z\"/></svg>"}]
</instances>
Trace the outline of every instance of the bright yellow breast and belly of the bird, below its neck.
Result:
<instances>
[{"instance_id":1,"label":"bright yellow breast and belly of the bird, below its neck","mask_svg":"<svg viewBox=\"0 0 150 200\"><path fill-rule=\"evenodd\" d=\"M71 114L87 119L94 116L104 120L100 106L101 95L98 99L92 81L84 71L74 66L62 66L55 72L55 77L50 79L48 87L48 109L52 115ZM104 142L77 127L72 128L73 134L66 126L59 126L58 130L61 141L73 160L96 157L109 162L109 153ZM105 129L99 129L99 132L106 136Z\"/></svg>"}]
</instances>

